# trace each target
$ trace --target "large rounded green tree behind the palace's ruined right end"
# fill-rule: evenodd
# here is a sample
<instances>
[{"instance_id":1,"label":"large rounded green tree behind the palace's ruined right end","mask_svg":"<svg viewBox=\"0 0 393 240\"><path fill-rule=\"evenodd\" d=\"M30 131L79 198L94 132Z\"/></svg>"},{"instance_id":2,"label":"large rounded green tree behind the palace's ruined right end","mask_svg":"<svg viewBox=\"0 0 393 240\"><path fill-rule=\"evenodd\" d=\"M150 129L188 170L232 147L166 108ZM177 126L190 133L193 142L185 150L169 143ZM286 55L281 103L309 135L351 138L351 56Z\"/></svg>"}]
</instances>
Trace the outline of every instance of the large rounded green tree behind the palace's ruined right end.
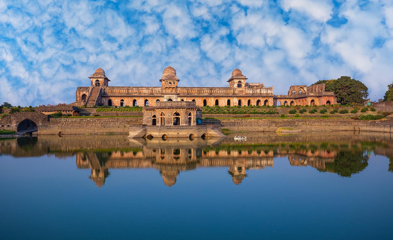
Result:
<instances>
[{"instance_id":1,"label":"large rounded green tree behind the palace's ruined right end","mask_svg":"<svg viewBox=\"0 0 393 240\"><path fill-rule=\"evenodd\" d=\"M367 86L351 77L341 76L338 79L319 80L314 84L320 83L325 83L325 91L334 92L337 102L341 104L363 103L363 99L368 96Z\"/></svg>"}]
</instances>

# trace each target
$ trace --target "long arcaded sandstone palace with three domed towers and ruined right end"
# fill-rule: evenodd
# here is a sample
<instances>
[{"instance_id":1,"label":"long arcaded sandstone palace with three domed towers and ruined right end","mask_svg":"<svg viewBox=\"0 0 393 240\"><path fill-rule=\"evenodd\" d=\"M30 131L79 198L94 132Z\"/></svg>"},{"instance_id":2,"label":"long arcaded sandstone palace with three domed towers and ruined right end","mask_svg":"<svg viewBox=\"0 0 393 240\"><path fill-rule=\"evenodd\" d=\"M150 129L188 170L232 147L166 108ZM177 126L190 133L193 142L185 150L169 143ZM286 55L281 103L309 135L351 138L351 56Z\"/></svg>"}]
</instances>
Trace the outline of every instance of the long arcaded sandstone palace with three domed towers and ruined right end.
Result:
<instances>
[{"instance_id":1,"label":"long arcaded sandstone palace with three domed towers and ruined right end","mask_svg":"<svg viewBox=\"0 0 393 240\"><path fill-rule=\"evenodd\" d=\"M333 92L325 92L325 85L291 86L288 95L274 95L273 87L263 83L249 83L241 70L235 69L228 79L229 87L178 87L176 70L168 66L160 79L161 87L110 87L102 68L90 77L90 87L78 87L75 105L155 106L156 102L186 101L197 106L248 105L323 105L334 104Z\"/></svg>"}]
</instances>

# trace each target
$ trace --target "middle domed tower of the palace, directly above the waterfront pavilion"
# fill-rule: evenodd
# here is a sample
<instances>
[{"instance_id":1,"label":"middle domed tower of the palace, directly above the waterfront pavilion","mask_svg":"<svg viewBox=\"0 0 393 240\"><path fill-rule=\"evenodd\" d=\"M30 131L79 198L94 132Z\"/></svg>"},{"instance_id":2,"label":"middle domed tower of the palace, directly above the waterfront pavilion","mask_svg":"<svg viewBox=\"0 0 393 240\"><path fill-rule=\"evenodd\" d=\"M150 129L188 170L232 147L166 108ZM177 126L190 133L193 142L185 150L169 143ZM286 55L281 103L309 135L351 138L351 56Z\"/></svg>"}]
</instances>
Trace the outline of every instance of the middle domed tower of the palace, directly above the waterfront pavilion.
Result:
<instances>
[{"instance_id":1,"label":"middle domed tower of the palace, directly above the waterfront pavilion","mask_svg":"<svg viewBox=\"0 0 393 240\"><path fill-rule=\"evenodd\" d=\"M162 83L162 88L165 101L177 101L177 83L180 79L176 76L176 70L173 67L167 66L162 72L162 78L160 82Z\"/></svg>"}]
</instances>

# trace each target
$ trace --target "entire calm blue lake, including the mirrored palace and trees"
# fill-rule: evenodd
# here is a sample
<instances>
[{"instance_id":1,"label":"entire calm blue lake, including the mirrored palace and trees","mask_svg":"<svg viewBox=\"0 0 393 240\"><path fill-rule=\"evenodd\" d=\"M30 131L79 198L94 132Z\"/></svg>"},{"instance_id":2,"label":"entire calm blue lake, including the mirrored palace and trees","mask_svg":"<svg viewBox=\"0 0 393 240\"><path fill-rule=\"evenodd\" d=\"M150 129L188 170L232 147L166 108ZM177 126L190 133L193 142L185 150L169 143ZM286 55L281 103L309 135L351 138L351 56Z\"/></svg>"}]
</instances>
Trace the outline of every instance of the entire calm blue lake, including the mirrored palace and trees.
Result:
<instances>
[{"instance_id":1,"label":"entire calm blue lake, including the mirrored palace and trees","mask_svg":"<svg viewBox=\"0 0 393 240\"><path fill-rule=\"evenodd\" d=\"M391 239L389 134L0 140L2 239Z\"/></svg>"}]
</instances>

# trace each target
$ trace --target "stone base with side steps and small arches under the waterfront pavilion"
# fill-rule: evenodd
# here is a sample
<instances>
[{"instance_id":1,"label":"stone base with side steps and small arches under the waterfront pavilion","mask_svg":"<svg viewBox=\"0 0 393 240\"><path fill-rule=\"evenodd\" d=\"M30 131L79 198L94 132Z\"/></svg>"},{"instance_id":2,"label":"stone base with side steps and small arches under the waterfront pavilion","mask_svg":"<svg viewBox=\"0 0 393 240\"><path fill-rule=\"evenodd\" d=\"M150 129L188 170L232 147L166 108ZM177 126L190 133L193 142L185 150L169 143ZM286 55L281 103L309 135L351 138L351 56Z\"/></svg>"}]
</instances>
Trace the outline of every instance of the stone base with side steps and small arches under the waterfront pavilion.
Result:
<instances>
[{"instance_id":1,"label":"stone base with side steps and small arches under the waterfront pavilion","mask_svg":"<svg viewBox=\"0 0 393 240\"><path fill-rule=\"evenodd\" d=\"M202 126L149 126L132 125L128 138L139 137L226 137L220 125Z\"/></svg>"}]
</instances>

